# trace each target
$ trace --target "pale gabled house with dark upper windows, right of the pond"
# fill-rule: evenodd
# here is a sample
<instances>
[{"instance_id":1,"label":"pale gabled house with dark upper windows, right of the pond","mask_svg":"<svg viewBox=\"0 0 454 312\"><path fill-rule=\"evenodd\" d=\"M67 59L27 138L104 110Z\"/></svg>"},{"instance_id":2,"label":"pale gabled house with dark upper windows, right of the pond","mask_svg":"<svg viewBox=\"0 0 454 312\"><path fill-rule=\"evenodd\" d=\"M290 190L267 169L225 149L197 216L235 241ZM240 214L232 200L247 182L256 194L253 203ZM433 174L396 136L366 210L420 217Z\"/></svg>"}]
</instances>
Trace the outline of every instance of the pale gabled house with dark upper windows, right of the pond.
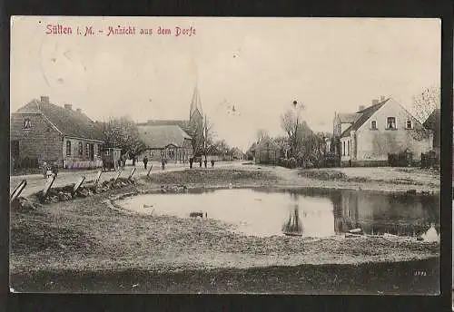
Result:
<instances>
[{"instance_id":1,"label":"pale gabled house with dark upper windows, right of the pond","mask_svg":"<svg viewBox=\"0 0 454 312\"><path fill-rule=\"evenodd\" d=\"M430 130L399 102L384 97L358 112L335 114L333 136L341 166L387 166L390 154L404 151L418 162L433 144Z\"/></svg>"}]
</instances>

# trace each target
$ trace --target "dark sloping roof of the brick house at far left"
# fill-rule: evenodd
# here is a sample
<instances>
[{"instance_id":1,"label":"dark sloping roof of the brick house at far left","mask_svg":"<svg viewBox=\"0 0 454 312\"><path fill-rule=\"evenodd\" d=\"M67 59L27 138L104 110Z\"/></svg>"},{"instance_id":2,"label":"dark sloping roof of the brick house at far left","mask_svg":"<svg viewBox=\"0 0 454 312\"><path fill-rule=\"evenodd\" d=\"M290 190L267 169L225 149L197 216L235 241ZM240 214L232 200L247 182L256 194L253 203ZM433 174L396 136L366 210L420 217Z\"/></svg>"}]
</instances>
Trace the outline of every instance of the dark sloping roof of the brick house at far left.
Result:
<instances>
[{"instance_id":1,"label":"dark sloping roof of the brick house at far left","mask_svg":"<svg viewBox=\"0 0 454 312\"><path fill-rule=\"evenodd\" d=\"M101 129L83 112L76 112L50 102L33 100L15 113L43 113L66 136L103 140Z\"/></svg>"}]
</instances>

